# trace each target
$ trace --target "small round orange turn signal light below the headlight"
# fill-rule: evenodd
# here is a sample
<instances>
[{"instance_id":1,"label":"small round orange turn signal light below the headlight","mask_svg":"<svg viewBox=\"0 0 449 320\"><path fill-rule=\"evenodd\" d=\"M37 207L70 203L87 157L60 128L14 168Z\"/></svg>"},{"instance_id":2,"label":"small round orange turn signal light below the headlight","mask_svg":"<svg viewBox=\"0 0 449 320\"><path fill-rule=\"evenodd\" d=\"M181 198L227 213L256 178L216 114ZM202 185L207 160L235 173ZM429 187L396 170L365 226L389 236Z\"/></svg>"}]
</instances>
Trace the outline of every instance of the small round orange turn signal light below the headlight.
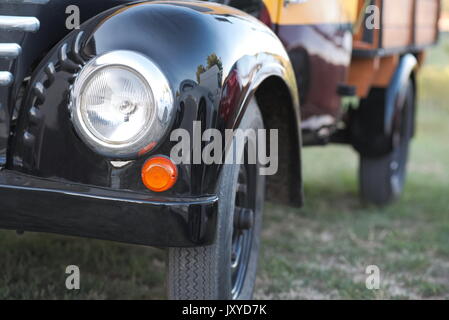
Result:
<instances>
[{"instance_id":1,"label":"small round orange turn signal light below the headlight","mask_svg":"<svg viewBox=\"0 0 449 320\"><path fill-rule=\"evenodd\" d=\"M151 191L167 191L177 179L178 168L169 158L156 156L148 159L142 167L143 184Z\"/></svg>"}]
</instances>

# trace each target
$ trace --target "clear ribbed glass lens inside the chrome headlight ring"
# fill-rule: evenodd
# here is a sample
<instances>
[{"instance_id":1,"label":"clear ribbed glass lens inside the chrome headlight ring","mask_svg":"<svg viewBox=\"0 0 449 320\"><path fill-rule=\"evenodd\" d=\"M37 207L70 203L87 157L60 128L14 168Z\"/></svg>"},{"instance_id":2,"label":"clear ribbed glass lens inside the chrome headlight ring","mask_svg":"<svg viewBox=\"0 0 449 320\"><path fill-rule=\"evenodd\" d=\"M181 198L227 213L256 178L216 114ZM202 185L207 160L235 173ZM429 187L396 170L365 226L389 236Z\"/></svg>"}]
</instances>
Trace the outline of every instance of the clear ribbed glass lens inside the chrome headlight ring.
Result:
<instances>
[{"instance_id":1,"label":"clear ribbed glass lens inside the chrome headlight ring","mask_svg":"<svg viewBox=\"0 0 449 320\"><path fill-rule=\"evenodd\" d=\"M122 66L95 72L84 84L80 111L87 129L97 139L122 145L145 134L155 112L149 85Z\"/></svg>"}]
</instances>

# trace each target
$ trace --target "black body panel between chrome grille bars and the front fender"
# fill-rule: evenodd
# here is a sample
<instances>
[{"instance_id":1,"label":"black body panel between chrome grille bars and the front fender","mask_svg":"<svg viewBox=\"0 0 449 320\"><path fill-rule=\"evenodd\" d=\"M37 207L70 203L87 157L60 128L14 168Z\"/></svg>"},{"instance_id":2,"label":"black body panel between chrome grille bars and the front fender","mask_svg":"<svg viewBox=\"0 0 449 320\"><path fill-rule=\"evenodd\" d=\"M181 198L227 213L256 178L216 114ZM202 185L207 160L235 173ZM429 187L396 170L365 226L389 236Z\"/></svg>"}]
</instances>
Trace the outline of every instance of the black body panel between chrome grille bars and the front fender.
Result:
<instances>
[{"instance_id":1,"label":"black body panel between chrome grille bars and the front fender","mask_svg":"<svg viewBox=\"0 0 449 320\"><path fill-rule=\"evenodd\" d=\"M39 62L71 30L65 26L66 8L76 5L80 9L81 22L130 0L56 0L46 5L30 3L12 3L0 1L0 15L30 16L40 21L36 33L10 32L0 30L0 43L17 43L22 54L13 63L0 59L0 69L14 74L14 83L10 87L0 87L0 166L6 162L9 141L10 121L15 118L14 109L23 80L31 75ZM14 126L14 120L12 123Z\"/></svg>"}]
</instances>

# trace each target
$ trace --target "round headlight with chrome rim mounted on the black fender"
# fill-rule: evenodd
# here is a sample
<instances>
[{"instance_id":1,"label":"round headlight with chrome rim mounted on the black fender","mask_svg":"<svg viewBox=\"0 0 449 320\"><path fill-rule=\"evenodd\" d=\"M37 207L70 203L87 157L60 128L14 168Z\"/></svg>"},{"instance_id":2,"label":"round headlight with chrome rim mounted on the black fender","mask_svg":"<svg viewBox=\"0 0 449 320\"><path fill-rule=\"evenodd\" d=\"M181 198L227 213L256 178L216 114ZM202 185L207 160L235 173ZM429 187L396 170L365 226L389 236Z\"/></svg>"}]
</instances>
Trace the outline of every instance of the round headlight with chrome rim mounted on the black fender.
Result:
<instances>
[{"instance_id":1,"label":"round headlight with chrome rim mounted on the black fender","mask_svg":"<svg viewBox=\"0 0 449 320\"><path fill-rule=\"evenodd\" d=\"M74 126L84 142L111 158L151 150L168 130L173 95L147 57L112 51L86 64L71 101Z\"/></svg>"}]
</instances>

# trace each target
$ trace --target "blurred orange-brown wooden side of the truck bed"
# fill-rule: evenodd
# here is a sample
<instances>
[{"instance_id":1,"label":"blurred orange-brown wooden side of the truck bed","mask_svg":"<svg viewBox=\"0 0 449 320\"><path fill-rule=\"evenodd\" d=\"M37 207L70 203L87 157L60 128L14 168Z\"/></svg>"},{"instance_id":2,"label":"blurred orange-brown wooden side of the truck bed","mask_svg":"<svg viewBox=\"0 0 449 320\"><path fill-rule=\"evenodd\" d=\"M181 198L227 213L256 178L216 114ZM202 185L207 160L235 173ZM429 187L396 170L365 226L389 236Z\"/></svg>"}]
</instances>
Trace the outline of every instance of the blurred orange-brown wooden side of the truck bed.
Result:
<instances>
[{"instance_id":1,"label":"blurred orange-brown wooden side of the truck bed","mask_svg":"<svg viewBox=\"0 0 449 320\"><path fill-rule=\"evenodd\" d=\"M402 54L414 53L422 62L424 50L438 41L441 1L359 0L358 5L362 14L367 5L380 9L380 28L367 27L374 13L368 10L354 34L349 83L366 97L372 87L388 86Z\"/></svg>"}]
</instances>

